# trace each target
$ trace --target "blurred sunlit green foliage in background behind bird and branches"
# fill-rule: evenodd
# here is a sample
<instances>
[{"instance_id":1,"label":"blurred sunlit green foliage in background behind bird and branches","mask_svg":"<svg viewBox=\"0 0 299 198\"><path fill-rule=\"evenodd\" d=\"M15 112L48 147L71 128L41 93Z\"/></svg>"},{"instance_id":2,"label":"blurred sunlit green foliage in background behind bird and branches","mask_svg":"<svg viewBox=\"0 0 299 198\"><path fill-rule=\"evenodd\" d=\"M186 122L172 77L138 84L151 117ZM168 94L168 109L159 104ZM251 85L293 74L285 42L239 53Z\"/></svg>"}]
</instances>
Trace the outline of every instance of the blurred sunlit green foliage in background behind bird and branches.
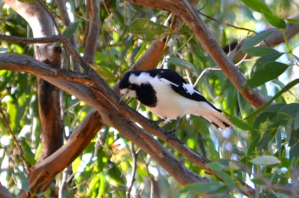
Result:
<instances>
[{"instance_id":1,"label":"blurred sunlit green foliage in background behind bird and branches","mask_svg":"<svg viewBox=\"0 0 299 198\"><path fill-rule=\"evenodd\" d=\"M242 2L241 2L242 1ZM286 34L286 19L295 13L296 3L260 0L209 0L200 1L196 8L217 20L228 21L238 27L255 31L267 29L269 24ZM244 4L244 3L245 4ZM257 3L257 4L255 4ZM63 35L72 34L82 46L86 24L86 8L81 1L68 1L73 24L63 27L58 21ZM258 5L258 6L257 6ZM54 0L47 1L49 10L58 15ZM148 49L150 41L161 36L167 38L169 47L165 57L161 57L158 67L170 68L194 82L206 68L217 68L212 58L205 52L188 26L176 35L161 25L168 12L130 4L125 1L101 1L101 33L97 40L98 49L93 68L112 86ZM149 20L150 19L150 20ZM31 35L26 21L7 6L1 6L0 32L19 37ZM288 20L298 22L297 20ZM247 31L220 24L208 18L213 35L219 43L228 45L240 37L246 38ZM149 27L149 28L148 28ZM153 27L156 27L153 29ZM235 125L230 130L219 131L204 119L187 115L179 121L177 137L189 148L213 161L206 165L218 178L207 175L184 156L164 146L184 165L202 177L211 177L212 183L191 184L182 187L166 173L150 156L140 151L137 158L136 181L133 195L150 196L150 185L155 183L160 197L199 197L197 193L212 193L227 196L228 192L238 196L237 187L242 187L240 178L257 190L256 195L278 198L287 197L287 192L270 186L291 186L293 174L298 170L299 161L299 104L298 104L298 35L285 43L271 48L256 46L274 31L250 34L241 51L252 58L238 64L248 81L245 87L257 90L269 100L256 110L236 90L222 71L205 73L196 85L216 107L222 109ZM33 56L33 45L1 41L1 51ZM165 49L166 50L166 49ZM82 52L83 48L79 47ZM40 126L37 104L37 78L22 72L0 71L1 109L9 128L22 148L22 155L29 165L35 165L41 147ZM272 98L272 99L271 99ZM275 104L273 104L274 102ZM133 108L137 101L128 102ZM80 123L91 107L85 106L74 96L64 93L64 124L66 137ZM145 107L139 110L149 119L158 120ZM16 195L19 189L28 189L24 164L12 136L0 120L0 182ZM165 126L172 129L174 123ZM135 147L135 150L138 148ZM101 129L98 136L69 167L65 198L68 197L126 197L126 188L131 180L132 155L130 141L109 126ZM56 176L44 193L54 197L55 189L62 180L62 173ZM276 187L275 186L275 187ZM187 195L186 195L187 194Z\"/></svg>"}]
</instances>

